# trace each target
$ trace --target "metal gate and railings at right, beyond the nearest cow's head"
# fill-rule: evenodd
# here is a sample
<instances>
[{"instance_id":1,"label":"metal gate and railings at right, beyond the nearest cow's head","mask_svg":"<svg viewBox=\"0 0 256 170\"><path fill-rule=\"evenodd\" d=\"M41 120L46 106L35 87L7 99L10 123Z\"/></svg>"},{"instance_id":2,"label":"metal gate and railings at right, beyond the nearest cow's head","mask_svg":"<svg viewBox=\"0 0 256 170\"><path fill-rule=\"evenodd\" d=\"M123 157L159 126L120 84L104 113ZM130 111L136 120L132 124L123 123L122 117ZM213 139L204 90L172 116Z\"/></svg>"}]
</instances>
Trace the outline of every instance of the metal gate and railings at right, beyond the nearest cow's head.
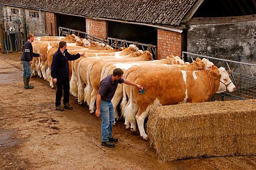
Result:
<instances>
[{"instance_id":1,"label":"metal gate and railings at right, beyond the nearest cow's head","mask_svg":"<svg viewBox=\"0 0 256 170\"><path fill-rule=\"evenodd\" d=\"M182 52L183 60L185 55L187 55L189 62L194 61L197 57L207 58L209 61L214 63L215 66L223 66L231 73L231 79L237 87L236 91L223 92L220 94L215 93L215 95L213 95L211 98L211 101L244 100L256 98L256 64L225 60L189 52Z\"/></svg>"}]
</instances>

